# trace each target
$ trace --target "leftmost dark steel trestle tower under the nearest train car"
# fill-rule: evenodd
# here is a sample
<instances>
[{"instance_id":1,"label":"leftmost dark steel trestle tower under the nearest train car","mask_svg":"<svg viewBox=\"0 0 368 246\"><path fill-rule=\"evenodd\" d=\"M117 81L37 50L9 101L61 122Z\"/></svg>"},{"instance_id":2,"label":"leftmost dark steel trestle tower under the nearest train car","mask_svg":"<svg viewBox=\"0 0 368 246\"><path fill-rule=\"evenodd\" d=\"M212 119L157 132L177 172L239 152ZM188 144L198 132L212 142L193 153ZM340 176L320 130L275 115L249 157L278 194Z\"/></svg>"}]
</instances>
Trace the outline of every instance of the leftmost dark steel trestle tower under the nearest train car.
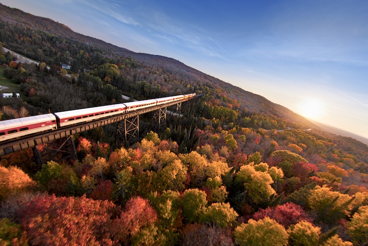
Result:
<instances>
[{"instance_id":1,"label":"leftmost dark steel trestle tower under the nearest train car","mask_svg":"<svg viewBox=\"0 0 368 246\"><path fill-rule=\"evenodd\" d=\"M44 163L48 161L60 162L63 160L77 159L76 149L72 135L56 139L52 143L42 146L42 150L39 150L39 146L32 147L34 160L39 167L42 167Z\"/></svg>"}]
</instances>

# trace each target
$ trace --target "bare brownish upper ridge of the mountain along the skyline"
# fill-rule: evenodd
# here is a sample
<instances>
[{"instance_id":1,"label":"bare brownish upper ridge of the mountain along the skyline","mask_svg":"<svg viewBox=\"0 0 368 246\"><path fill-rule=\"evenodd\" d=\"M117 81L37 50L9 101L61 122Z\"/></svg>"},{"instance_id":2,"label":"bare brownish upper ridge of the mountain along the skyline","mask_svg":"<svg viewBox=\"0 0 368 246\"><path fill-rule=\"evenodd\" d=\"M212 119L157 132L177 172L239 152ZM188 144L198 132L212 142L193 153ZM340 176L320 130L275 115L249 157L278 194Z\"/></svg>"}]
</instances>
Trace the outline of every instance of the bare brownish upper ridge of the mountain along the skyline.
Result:
<instances>
[{"instance_id":1,"label":"bare brownish upper ridge of the mountain along the skyline","mask_svg":"<svg viewBox=\"0 0 368 246\"><path fill-rule=\"evenodd\" d=\"M241 102L241 107L249 112L265 114L266 116L275 116L287 119L292 122L303 124L308 128L318 128L316 125L305 118L295 114L291 110L267 100L265 97L245 91L239 87L221 81L210 75L204 74L184 63L159 55L150 55L143 53L135 53L125 48L120 48L104 41L84 36L83 34L72 31L69 27L55 22L48 18L34 16L21 10L9 8L0 4L0 20L25 26L27 28L45 31L56 36L73 39L79 42L91 43L92 45L110 50L111 54L131 56L147 67L161 68L162 71L173 74L181 78L187 78L193 83L203 83L210 87L213 91L219 89L231 99Z\"/></svg>"}]
</instances>

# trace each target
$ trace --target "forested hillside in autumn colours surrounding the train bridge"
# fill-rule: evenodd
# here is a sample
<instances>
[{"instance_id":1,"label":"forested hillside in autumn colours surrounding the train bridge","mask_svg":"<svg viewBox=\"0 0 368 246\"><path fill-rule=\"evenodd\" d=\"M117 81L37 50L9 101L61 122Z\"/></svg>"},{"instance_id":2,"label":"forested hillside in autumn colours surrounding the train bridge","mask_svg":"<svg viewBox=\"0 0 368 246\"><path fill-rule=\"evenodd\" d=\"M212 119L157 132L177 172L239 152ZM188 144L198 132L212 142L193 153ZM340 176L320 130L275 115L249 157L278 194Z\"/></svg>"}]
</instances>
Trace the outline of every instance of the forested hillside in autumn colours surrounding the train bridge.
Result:
<instances>
[{"instance_id":1,"label":"forested hillside in autumn colours surrounding the train bridge","mask_svg":"<svg viewBox=\"0 0 368 246\"><path fill-rule=\"evenodd\" d=\"M130 147L110 125L74 135L77 160L2 157L0 244L366 245L368 146L171 58L3 5L0 27L2 47L39 61L1 49L4 92L21 94L0 98L2 120L203 93L161 135L142 117Z\"/></svg>"}]
</instances>

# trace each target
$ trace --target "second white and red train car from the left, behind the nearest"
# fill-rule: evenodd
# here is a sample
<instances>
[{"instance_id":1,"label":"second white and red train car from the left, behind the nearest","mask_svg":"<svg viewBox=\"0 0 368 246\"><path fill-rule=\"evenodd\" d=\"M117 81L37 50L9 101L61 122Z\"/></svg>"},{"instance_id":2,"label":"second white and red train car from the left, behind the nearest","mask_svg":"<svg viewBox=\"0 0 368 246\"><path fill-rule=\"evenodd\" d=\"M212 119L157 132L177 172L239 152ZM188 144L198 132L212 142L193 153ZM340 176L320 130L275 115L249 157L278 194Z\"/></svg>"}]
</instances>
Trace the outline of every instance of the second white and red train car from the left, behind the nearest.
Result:
<instances>
[{"instance_id":1,"label":"second white and red train car from the left, behind the nearest","mask_svg":"<svg viewBox=\"0 0 368 246\"><path fill-rule=\"evenodd\" d=\"M54 115L58 118L58 127L63 127L82 122L98 120L109 116L124 114L126 109L127 107L125 104L119 103L94 108L58 112L54 113Z\"/></svg>"}]
</instances>

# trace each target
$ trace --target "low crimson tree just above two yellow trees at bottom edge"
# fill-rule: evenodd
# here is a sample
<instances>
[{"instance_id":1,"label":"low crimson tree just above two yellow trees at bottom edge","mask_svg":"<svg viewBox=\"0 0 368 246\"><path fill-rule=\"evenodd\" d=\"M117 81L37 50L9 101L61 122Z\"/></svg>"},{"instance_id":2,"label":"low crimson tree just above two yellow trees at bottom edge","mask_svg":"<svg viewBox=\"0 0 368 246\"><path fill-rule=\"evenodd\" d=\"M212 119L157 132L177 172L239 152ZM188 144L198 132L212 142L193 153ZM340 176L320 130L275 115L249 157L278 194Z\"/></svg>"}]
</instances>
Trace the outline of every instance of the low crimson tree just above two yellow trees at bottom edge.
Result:
<instances>
[{"instance_id":1,"label":"low crimson tree just above two yellow trees at bottom edge","mask_svg":"<svg viewBox=\"0 0 368 246\"><path fill-rule=\"evenodd\" d=\"M276 207L259 209L258 212L253 215L253 219L255 220L261 220L265 217L274 219L285 228L288 228L290 225L297 224L302 220L313 222L304 209L293 202L287 202Z\"/></svg>"}]
</instances>

